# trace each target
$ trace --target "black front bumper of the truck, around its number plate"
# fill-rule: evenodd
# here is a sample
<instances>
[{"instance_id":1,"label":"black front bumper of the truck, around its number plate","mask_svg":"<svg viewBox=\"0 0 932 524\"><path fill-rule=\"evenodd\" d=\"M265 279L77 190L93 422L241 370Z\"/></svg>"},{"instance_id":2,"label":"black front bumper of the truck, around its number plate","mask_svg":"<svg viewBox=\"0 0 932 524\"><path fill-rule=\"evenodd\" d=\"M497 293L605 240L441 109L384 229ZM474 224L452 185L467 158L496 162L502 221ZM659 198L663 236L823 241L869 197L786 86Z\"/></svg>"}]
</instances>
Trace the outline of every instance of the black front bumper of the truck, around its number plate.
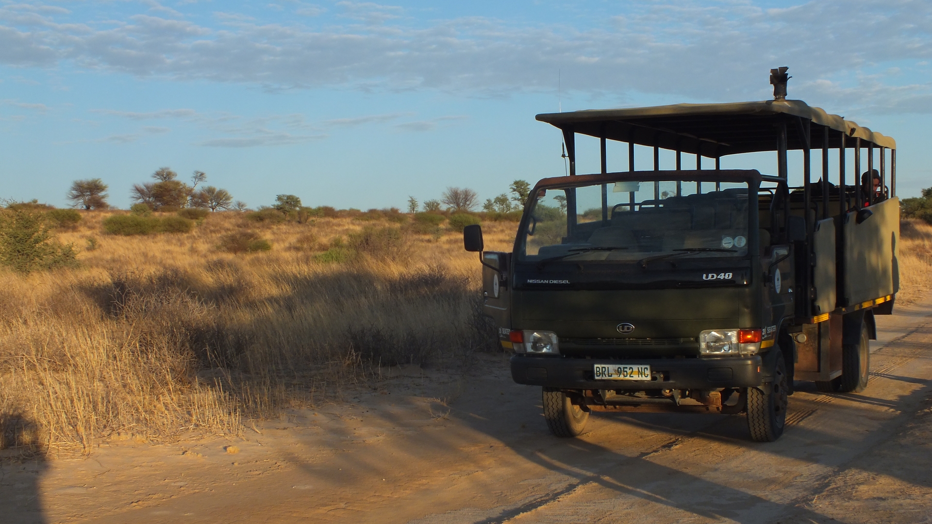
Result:
<instances>
[{"instance_id":1,"label":"black front bumper of the truck, around its number plate","mask_svg":"<svg viewBox=\"0 0 932 524\"><path fill-rule=\"evenodd\" d=\"M512 379L519 384L568 390L712 390L760 386L761 356L664 359L583 359L516 354ZM651 365L653 379L596 380L593 365Z\"/></svg>"}]
</instances>

